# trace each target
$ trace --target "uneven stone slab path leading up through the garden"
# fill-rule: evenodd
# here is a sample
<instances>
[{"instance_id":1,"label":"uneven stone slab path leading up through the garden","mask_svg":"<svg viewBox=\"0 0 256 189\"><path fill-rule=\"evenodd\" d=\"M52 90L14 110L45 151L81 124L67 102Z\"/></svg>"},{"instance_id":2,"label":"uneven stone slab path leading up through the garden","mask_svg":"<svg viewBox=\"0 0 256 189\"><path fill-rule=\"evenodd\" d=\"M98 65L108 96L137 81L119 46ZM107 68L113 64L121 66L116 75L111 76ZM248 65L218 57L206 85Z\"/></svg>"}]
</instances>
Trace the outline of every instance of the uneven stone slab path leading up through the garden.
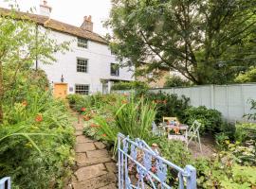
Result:
<instances>
[{"instance_id":1,"label":"uneven stone slab path leading up through the garden","mask_svg":"<svg viewBox=\"0 0 256 189\"><path fill-rule=\"evenodd\" d=\"M73 189L117 188L117 164L113 162L106 146L82 134L83 123L74 123L76 128L76 165L72 177Z\"/></svg>"}]
</instances>

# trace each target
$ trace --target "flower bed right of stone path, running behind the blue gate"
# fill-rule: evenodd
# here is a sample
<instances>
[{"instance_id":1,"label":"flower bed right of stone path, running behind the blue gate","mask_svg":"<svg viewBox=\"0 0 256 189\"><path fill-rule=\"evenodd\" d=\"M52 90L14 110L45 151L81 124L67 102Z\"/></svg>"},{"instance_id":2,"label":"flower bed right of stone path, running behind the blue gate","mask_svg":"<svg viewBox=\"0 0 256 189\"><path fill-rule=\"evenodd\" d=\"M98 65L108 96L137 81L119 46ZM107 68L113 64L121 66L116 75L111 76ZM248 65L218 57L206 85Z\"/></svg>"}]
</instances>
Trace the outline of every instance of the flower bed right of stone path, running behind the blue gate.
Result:
<instances>
[{"instance_id":1,"label":"flower bed right of stone path, running behind the blue gate","mask_svg":"<svg viewBox=\"0 0 256 189\"><path fill-rule=\"evenodd\" d=\"M94 102L90 103L90 106L83 104L82 109L80 109L85 120L84 134L103 141L112 148L114 155L117 151L117 134L121 132L124 135L129 135L132 139L143 139L150 146L156 144L164 158L181 167L188 163L194 165L197 169L197 185L200 188L255 187L256 178L253 174L256 171L255 166L241 163L230 149L218 152L212 159L199 158L195 160L181 142L168 141L165 137L156 137L152 133L152 121L155 120L155 115L159 113L157 106L159 104L165 105L168 99L162 98L161 103L159 103L159 99L155 101L146 96L136 97L121 94L97 94L83 98L84 102ZM95 102L96 98L98 99L97 103ZM191 107L187 107L185 112L189 109ZM203 111L208 113L205 109ZM215 114L219 116L216 112L212 112L208 116ZM190 117L188 114L186 116ZM200 114L200 116L202 115ZM88 117L90 117L89 120ZM219 117L212 117L212 120L219 121ZM207 123L208 128L210 123ZM212 130L206 129L206 132L212 132ZM233 143L229 142L229 144L232 145ZM134 169L131 168L131 170ZM168 173L169 182L174 185L177 184L176 174L172 171Z\"/></svg>"}]
</instances>

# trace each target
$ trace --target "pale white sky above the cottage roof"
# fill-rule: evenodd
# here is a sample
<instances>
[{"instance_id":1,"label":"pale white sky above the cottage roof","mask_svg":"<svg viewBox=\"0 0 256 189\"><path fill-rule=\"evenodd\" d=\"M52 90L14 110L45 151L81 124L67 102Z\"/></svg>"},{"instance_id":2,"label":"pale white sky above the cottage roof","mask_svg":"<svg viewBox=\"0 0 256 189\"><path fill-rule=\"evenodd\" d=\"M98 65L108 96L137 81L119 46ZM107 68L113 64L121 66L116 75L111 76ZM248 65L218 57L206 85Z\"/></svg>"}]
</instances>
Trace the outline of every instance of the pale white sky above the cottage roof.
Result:
<instances>
[{"instance_id":1,"label":"pale white sky above the cottage roof","mask_svg":"<svg viewBox=\"0 0 256 189\"><path fill-rule=\"evenodd\" d=\"M35 8L39 13L39 5L42 0L16 0L22 11ZM10 1L13 2L13 1ZM102 26L107 20L111 9L111 0L47 0L47 5L52 8L50 17L52 19L81 26L83 17L91 15L94 23L94 31L104 36L110 31ZM9 8L9 3L0 0L0 7Z\"/></svg>"}]
</instances>

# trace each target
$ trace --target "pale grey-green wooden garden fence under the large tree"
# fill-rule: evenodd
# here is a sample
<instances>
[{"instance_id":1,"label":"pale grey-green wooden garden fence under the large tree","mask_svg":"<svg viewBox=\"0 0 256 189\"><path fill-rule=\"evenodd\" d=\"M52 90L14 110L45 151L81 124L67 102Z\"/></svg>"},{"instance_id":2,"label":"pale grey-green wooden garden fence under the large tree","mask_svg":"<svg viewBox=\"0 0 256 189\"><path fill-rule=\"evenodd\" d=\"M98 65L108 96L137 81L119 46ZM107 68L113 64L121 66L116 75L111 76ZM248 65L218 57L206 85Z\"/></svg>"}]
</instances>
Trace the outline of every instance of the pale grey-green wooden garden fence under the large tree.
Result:
<instances>
[{"instance_id":1,"label":"pale grey-green wooden garden fence under the large tree","mask_svg":"<svg viewBox=\"0 0 256 189\"><path fill-rule=\"evenodd\" d=\"M157 88L153 93L177 94L190 97L194 107L206 106L222 112L230 122L247 121L244 114L250 111L250 99L256 99L256 83L232 85L203 85L186 88ZM114 93L130 93L130 91L114 91Z\"/></svg>"}]
</instances>

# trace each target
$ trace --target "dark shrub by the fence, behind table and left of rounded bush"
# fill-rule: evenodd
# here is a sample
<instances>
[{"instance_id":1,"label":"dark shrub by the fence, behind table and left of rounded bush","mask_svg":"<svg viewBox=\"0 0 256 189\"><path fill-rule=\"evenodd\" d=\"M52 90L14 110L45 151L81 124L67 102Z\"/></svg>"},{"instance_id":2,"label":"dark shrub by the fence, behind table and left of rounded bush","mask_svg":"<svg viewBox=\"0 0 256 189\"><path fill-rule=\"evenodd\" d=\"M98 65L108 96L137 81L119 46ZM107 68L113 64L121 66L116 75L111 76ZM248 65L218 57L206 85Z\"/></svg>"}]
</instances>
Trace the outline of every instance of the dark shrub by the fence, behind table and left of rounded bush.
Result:
<instances>
[{"instance_id":1,"label":"dark shrub by the fence, behind table and left of rounded bush","mask_svg":"<svg viewBox=\"0 0 256 189\"><path fill-rule=\"evenodd\" d=\"M156 104L156 115L155 122L162 122L163 116L174 116L178 117L179 120L184 119L184 112L189 108L190 99L184 95L178 97L176 94L145 94L150 102L155 102Z\"/></svg>"}]
</instances>

